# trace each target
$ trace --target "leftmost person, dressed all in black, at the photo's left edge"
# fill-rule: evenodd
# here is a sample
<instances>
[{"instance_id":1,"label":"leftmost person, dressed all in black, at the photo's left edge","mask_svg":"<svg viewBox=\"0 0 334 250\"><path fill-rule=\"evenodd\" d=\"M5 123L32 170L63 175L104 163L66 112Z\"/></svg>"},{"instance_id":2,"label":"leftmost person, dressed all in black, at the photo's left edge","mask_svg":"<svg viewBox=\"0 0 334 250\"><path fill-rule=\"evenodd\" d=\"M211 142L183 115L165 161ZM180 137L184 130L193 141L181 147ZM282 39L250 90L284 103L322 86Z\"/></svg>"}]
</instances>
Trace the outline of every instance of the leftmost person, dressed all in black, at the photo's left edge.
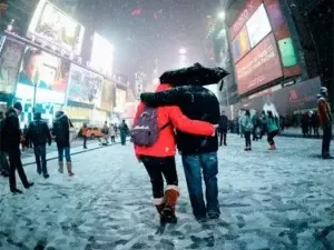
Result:
<instances>
[{"instance_id":1,"label":"leftmost person, dressed all in black, at the photo's left edge","mask_svg":"<svg viewBox=\"0 0 334 250\"><path fill-rule=\"evenodd\" d=\"M22 132L19 122L19 114L21 112L22 104L20 102L14 103L13 108L7 110L1 128L1 146L2 150L7 152L9 157L9 187L12 193L22 193L21 190L17 189L16 170L18 170L26 189L33 186L33 182L28 181L21 162L20 143Z\"/></svg>"}]
</instances>

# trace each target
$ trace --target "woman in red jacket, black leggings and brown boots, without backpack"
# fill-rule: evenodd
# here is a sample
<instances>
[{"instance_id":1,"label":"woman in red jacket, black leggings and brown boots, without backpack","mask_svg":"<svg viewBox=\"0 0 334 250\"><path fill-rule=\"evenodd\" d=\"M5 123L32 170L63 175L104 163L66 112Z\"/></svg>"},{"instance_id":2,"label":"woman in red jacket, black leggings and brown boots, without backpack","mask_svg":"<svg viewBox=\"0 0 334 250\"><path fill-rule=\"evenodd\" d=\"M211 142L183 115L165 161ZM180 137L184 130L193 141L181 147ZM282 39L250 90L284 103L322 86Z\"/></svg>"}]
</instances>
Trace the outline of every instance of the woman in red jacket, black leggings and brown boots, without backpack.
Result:
<instances>
[{"instance_id":1,"label":"woman in red jacket, black leggings and brown boots, without backpack","mask_svg":"<svg viewBox=\"0 0 334 250\"><path fill-rule=\"evenodd\" d=\"M160 84L157 91L170 88L169 84ZM134 126L137 124L145 104L141 102L137 108ZM175 153L176 140L174 128L186 133L198 136L214 136L215 126L204 121L190 120L183 114L176 106L157 108L157 123L161 129L157 141L150 147L135 144L136 157L141 161L149 174L153 186L154 204L160 216L160 221L176 223L175 206L179 197L178 178L176 172ZM164 192L164 179L167 186Z\"/></svg>"}]
</instances>

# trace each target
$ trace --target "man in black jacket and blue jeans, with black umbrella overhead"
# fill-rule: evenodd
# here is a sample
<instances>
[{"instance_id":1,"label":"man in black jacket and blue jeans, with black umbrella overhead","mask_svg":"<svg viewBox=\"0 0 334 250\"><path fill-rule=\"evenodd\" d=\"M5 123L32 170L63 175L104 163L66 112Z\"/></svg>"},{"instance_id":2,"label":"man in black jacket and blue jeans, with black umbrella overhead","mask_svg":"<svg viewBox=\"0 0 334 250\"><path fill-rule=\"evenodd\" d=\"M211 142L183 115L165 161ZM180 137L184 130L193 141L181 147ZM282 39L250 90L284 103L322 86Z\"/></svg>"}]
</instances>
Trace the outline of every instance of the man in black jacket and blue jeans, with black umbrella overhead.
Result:
<instances>
[{"instance_id":1,"label":"man in black jacket and blue jeans, with black umbrella overhead","mask_svg":"<svg viewBox=\"0 0 334 250\"><path fill-rule=\"evenodd\" d=\"M203 73L204 71L205 73ZM215 76L212 77L212 73ZM218 82L227 74L220 68L210 71L199 63L181 70L167 71L160 77L160 82L168 82L175 88L157 93L143 93L140 99L150 107L178 106L189 119L217 124L219 122L219 102L216 96L203 86ZM215 137L202 137L177 130L176 141L183 158L195 218L199 221L207 217L217 219L220 214L217 183L217 133ZM202 172L206 186L206 204L202 187Z\"/></svg>"}]
</instances>

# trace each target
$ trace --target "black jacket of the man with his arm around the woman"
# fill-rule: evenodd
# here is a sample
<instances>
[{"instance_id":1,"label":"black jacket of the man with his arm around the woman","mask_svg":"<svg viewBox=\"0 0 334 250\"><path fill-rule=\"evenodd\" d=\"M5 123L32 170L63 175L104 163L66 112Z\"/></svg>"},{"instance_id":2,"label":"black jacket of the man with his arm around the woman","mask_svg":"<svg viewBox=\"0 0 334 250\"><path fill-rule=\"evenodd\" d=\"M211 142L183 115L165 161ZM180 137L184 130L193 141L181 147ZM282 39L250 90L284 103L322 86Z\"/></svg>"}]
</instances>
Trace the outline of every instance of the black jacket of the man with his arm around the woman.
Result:
<instances>
[{"instance_id":1,"label":"black jacket of the man with his arm around the woman","mask_svg":"<svg viewBox=\"0 0 334 250\"><path fill-rule=\"evenodd\" d=\"M178 106L193 120L219 122L219 102L216 96L202 86L177 87L156 93L143 93L141 101L150 107ZM194 136L177 131L178 150L184 156L216 152L218 138Z\"/></svg>"}]
</instances>

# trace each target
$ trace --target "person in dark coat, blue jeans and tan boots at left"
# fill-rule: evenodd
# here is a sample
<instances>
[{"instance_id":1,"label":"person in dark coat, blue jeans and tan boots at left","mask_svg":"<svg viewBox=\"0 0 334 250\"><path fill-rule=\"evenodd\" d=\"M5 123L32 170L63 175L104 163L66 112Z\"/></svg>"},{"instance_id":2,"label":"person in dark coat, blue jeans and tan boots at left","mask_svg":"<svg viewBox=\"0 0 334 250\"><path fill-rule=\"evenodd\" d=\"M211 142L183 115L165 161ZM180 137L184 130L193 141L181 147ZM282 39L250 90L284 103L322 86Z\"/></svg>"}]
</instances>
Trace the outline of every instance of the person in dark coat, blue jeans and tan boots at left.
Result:
<instances>
[{"instance_id":1,"label":"person in dark coat, blue jeans and tan boots at left","mask_svg":"<svg viewBox=\"0 0 334 250\"><path fill-rule=\"evenodd\" d=\"M67 164L67 171L70 177L75 173L72 172L72 161L70 153L70 128L73 128L69 118L62 112L58 111L56 113L56 119L53 122L52 134L56 137L56 143L58 148L58 162L60 173L63 172L63 153Z\"/></svg>"}]
</instances>

